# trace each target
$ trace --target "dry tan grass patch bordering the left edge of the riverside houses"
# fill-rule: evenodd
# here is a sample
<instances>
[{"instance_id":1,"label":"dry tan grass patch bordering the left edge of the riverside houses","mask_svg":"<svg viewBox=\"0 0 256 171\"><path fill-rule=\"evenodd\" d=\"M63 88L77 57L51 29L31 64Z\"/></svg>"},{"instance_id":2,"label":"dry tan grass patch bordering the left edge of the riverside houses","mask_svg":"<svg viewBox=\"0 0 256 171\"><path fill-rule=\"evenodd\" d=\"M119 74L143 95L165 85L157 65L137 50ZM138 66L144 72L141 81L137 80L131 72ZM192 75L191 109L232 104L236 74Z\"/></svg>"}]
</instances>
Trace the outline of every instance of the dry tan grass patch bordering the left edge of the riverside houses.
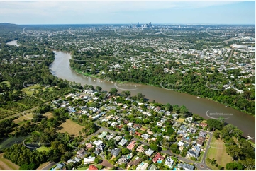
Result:
<instances>
[{"instance_id":1,"label":"dry tan grass patch bordering the left edge of the riverside houses","mask_svg":"<svg viewBox=\"0 0 256 171\"><path fill-rule=\"evenodd\" d=\"M79 136L79 131L82 131L82 128L84 126L81 126L75 122L72 122L71 119L67 119L66 122L62 123L59 128L59 132L65 133L67 132L69 135Z\"/></svg>"}]
</instances>

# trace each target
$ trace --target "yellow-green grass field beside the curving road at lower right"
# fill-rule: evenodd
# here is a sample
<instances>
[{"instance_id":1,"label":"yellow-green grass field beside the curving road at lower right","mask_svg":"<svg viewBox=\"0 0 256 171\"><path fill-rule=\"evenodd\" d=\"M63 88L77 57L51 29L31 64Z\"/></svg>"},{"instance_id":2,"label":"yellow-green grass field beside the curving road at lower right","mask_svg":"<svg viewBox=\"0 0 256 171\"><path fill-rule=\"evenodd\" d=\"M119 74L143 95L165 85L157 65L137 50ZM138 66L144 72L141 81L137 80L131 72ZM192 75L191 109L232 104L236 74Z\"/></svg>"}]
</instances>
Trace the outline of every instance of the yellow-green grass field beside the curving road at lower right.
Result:
<instances>
[{"instance_id":1,"label":"yellow-green grass field beside the curving road at lower right","mask_svg":"<svg viewBox=\"0 0 256 171\"><path fill-rule=\"evenodd\" d=\"M214 136L210 143L211 148L209 148L207 153L207 158L215 158L218 165L225 167L227 163L232 162L230 155L226 153L226 146L222 140L217 140ZM211 165L208 165L211 167Z\"/></svg>"}]
</instances>

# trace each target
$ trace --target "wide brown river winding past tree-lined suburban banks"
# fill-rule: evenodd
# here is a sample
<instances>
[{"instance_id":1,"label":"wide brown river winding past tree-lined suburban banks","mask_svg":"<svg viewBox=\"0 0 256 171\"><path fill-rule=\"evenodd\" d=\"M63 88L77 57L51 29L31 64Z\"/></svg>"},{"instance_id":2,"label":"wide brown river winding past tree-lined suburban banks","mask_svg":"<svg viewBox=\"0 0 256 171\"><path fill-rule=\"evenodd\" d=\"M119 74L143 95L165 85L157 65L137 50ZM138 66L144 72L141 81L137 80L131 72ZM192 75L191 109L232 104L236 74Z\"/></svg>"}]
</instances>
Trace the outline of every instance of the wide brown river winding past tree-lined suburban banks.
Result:
<instances>
[{"instance_id":1,"label":"wide brown river winding past tree-lined suburban banks","mask_svg":"<svg viewBox=\"0 0 256 171\"><path fill-rule=\"evenodd\" d=\"M13 41L11 41L13 43ZM9 42L9 45L10 43ZM67 52L55 51L55 61L50 65L50 70L54 76L58 78L66 79L68 81L75 81L76 83L89 84L100 86L103 90L109 91L111 88L117 88L118 92L122 90L130 90L131 95L137 95L137 93L143 93L145 98L150 101L155 100L162 104L170 103L171 105L184 105L190 112L198 114L205 119L218 118L220 116L226 118L225 121L237 126L243 131L243 136L251 136L253 142L255 142L255 117L239 112L231 107L226 107L218 102L207 100L204 98L197 98L194 95L188 95L185 93L178 93L173 90L167 90L165 88L158 88L155 86L140 85L134 83L126 83L126 86L120 86L118 83L112 81L102 80L98 78L90 78L82 76L79 73L69 69L69 59L71 55ZM135 85L137 85L135 87Z\"/></svg>"}]
</instances>

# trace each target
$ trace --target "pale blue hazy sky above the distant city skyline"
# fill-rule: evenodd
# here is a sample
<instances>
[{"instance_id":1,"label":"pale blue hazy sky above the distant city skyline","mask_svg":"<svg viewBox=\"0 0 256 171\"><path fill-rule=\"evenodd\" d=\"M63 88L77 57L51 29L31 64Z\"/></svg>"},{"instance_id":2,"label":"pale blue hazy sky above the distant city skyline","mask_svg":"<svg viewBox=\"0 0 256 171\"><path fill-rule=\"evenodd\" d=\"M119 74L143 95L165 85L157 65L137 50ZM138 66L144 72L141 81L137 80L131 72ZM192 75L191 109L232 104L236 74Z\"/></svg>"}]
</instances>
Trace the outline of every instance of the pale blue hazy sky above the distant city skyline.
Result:
<instances>
[{"instance_id":1,"label":"pale blue hazy sky above the distant city skyline","mask_svg":"<svg viewBox=\"0 0 256 171\"><path fill-rule=\"evenodd\" d=\"M255 24L255 1L1 1L0 23Z\"/></svg>"}]
</instances>

